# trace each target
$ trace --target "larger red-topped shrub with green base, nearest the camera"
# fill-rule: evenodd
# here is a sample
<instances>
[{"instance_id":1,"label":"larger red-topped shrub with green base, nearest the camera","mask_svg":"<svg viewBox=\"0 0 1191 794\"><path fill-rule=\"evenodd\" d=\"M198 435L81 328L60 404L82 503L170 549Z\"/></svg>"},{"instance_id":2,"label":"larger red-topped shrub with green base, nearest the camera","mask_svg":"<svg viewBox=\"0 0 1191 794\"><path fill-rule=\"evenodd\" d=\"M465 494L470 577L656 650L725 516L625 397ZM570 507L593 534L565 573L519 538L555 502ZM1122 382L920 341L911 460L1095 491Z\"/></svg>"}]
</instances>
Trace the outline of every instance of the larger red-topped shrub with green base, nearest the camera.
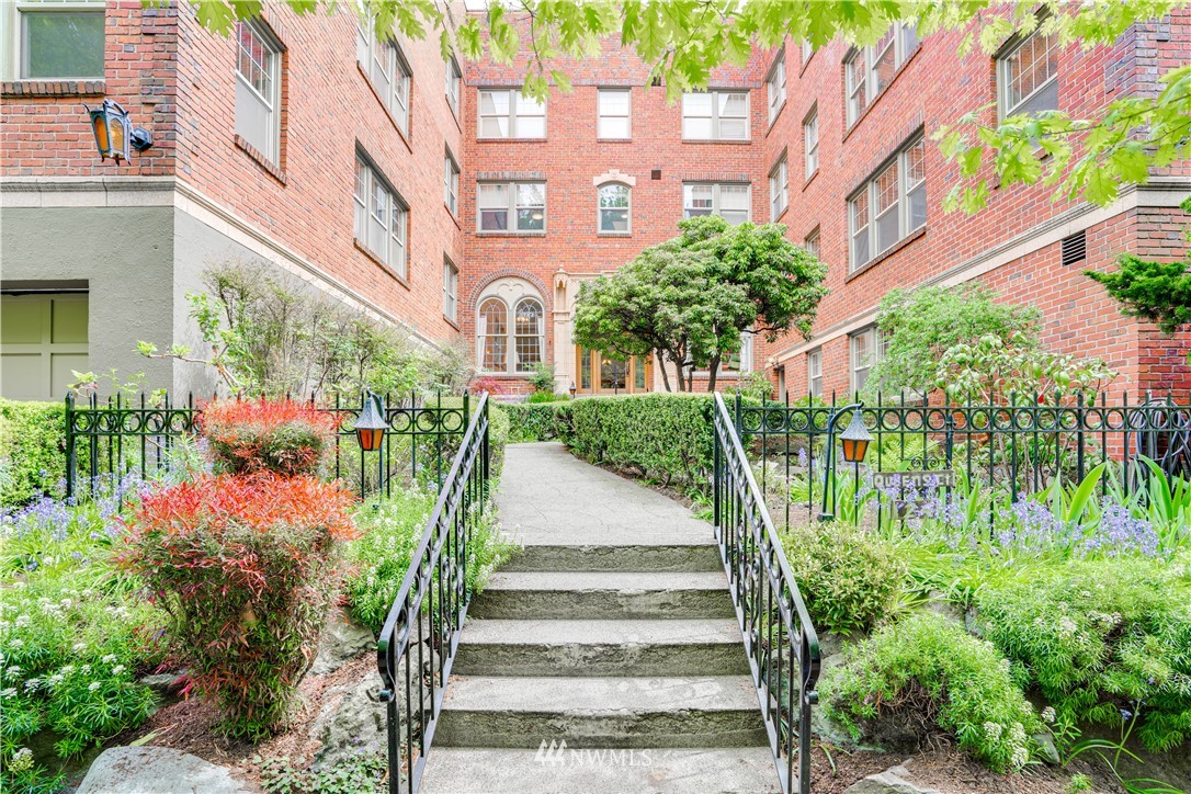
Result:
<instances>
[{"instance_id":1,"label":"larger red-topped shrub with green base, nearest the camera","mask_svg":"<svg viewBox=\"0 0 1191 794\"><path fill-rule=\"evenodd\" d=\"M229 736L282 724L337 586L354 496L314 477L205 476L148 494L120 563L173 617L175 652Z\"/></svg>"}]
</instances>

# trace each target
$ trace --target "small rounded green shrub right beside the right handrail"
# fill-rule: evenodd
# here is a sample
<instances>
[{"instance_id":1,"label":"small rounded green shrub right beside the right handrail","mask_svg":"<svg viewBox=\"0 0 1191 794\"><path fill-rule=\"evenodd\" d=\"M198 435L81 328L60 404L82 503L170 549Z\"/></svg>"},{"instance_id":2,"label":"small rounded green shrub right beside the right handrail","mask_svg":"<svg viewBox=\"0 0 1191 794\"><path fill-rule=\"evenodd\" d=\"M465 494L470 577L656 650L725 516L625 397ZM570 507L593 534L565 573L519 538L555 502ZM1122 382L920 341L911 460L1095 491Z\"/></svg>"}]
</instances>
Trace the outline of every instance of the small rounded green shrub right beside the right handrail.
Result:
<instances>
[{"instance_id":1,"label":"small rounded green shrub right beside the right handrail","mask_svg":"<svg viewBox=\"0 0 1191 794\"><path fill-rule=\"evenodd\" d=\"M906 571L891 544L836 523L791 527L781 545L818 631L867 631L893 609Z\"/></svg>"}]
</instances>

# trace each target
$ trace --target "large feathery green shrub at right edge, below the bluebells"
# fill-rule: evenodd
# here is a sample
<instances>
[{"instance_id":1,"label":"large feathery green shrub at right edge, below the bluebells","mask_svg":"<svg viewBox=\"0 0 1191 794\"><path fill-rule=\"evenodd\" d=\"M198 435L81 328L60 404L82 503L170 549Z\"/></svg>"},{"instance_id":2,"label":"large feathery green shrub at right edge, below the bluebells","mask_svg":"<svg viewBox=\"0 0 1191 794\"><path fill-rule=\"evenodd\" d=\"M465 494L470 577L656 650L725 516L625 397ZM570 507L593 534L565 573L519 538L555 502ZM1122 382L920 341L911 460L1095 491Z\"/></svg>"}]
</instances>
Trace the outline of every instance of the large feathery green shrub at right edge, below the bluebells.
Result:
<instances>
[{"instance_id":1,"label":"large feathery green shrub at right edge, below the bluebells","mask_svg":"<svg viewBox=\"0 0 1191 794\"><path fill-rule=\"evenodd\" d=\"M1139 714L1151 750L1191 739L1191 555L1034 565L977 590L979 625L1064 721Z\"/></svg>"}]
</instances>

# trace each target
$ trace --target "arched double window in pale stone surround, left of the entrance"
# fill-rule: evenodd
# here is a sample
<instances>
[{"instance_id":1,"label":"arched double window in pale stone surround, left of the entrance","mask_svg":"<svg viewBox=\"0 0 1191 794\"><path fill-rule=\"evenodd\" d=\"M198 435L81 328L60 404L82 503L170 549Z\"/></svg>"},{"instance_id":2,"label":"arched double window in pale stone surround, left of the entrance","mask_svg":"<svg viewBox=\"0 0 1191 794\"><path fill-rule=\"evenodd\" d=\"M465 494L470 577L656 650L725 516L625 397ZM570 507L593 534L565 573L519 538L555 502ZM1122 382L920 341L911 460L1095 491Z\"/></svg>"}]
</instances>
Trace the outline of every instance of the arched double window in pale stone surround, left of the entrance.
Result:
<instances>
[{"instance_id":1,"label":"arched double window in pale stone surround, left of the entrance","mask_svg":"<svg viewBox=\"0 0 1191 794\"><path fill-rule=\"evenodd\" d=\"M476 361L486 373L523 375L544 361L545 310L528 282L503 279L480 295Z\"/></svg>"}]
</instances>

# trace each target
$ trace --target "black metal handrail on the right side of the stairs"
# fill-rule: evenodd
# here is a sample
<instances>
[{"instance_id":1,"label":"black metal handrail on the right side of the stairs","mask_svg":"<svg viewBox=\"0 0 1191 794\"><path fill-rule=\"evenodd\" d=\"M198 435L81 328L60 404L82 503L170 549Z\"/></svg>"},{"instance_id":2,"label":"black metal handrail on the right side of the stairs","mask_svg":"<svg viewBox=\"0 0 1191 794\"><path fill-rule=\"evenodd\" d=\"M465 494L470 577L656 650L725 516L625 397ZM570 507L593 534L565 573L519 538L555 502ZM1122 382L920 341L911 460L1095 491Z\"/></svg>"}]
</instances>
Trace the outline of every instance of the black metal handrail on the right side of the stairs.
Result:
<instances>
[{"instance_id":1,"label":"black metal handrail on the right side of the stairs","mask_svg":"<svg viewBox=\"0 0 1191 794\"><path fill-rule=\"evenodd\" d=\"M811 782L811 706L819 674L818 634L765 506L736 423L716 394L713 512L719 556L781 789ZM797 687L797 688L796 688Z\"/></svg>"}]
</instances>

